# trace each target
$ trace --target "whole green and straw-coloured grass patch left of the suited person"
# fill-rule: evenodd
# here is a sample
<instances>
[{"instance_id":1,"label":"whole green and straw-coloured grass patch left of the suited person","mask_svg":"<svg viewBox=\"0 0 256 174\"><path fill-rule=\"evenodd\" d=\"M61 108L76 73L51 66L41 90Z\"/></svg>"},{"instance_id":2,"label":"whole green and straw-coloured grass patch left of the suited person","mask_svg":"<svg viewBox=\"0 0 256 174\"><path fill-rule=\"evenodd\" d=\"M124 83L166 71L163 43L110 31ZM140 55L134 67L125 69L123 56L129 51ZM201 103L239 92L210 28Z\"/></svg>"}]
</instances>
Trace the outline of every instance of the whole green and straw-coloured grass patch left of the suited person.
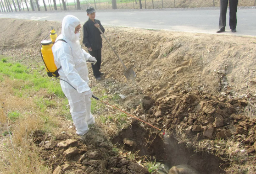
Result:
<instances>
[{"instance_id":1,"label":"whole green and straw-coloured grass patch left of the suited person","mask_svg":"<svg viewBox=\"0 0 256 174\"><path fill-rule=\"evenodd\" d=\"M0 90L3 113L7 122L1 122L0 171L5 174L51 174L39 159L39 148L34 145L31 134L36 130L57 132L61 127L58 116L70 116L68 104L59 80L39 74L42 66L29 69L22 63L0 55ZM54 96L50 99L49 96ZM62 98L62 101L60 102ZM3 100L3 101L2 101ZM65 107L65 105L64 105ZM66 117L66 118L67 118Z\"/></svg>"}]
</instances>

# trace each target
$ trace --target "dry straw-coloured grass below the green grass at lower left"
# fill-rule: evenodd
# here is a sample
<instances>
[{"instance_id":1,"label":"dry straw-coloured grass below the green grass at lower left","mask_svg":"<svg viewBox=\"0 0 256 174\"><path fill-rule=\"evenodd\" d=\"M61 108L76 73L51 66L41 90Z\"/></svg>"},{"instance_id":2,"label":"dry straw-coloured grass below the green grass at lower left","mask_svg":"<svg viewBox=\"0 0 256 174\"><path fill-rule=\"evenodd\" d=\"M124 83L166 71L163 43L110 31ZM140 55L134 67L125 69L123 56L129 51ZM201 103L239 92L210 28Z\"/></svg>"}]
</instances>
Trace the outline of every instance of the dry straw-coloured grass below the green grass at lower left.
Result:
<instances>
[{"instance_id":1,"label":"dry straw-coloured grass below the green grass at lower left","mask_svg":"<svg viewBox=\"0 0 256 174\"><path fill-rule=\"evenodd\" d=\"M56 122L56 118L49 112L41 113L32 98L15 95L12 89L19 87L17 80L5 78L1 85L4 87L0 90L0 174L50 174L30 135L35 130L44 130L46 121L42 115L51 122ZM19 117L11 119L10 113L19 113Z\"/></svg>"}]
</instances>

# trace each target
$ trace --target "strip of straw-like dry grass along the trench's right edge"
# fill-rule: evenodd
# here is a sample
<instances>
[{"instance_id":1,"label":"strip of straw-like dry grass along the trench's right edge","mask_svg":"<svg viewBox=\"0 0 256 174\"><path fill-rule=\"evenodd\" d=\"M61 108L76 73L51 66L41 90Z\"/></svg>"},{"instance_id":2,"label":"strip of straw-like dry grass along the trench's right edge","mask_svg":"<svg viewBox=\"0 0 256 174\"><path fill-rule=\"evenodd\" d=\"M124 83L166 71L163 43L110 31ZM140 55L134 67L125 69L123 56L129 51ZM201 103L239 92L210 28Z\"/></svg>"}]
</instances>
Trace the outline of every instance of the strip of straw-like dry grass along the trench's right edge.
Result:
<instances>
[{"instance_id":1,"label":"strip of straw-like dry grass along the trench's right edge","mask_svg":"<svg viewBox=\"0 0 256 174\"><path fill-rule=\"evenodd\" d=\"M233 137L221 140L201 140L198 141L195 136L189 139L182 127L176 129L175 136L179 144L193 150L195 153L211 153L222 159L229 167L225 169L231 174L255 174L256 168L249 164L249 156L243 143L235 140ZM221 166L220 166L221 167Z\"/></svg>"}]
</instances>

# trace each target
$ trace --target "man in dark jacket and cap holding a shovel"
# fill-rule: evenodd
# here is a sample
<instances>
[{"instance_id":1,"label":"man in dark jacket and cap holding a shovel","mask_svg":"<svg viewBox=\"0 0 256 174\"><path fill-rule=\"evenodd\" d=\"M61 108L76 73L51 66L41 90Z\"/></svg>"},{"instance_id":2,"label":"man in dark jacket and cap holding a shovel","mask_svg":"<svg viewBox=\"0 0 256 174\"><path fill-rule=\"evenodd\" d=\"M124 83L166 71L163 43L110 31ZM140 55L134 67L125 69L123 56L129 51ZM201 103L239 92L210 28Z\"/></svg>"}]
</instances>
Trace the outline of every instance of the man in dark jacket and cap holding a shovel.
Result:
<instances>
[{"instance_id":1,"label":"man in dark jacket and cap holding a shovel","mask_svg":"<svg viewBox=\"0 0 256 174\"><path fill-rule=\"evenodd\" d=\"M83 24L83 44L88 48L89 54L97 59L97 63L92 63L92 69L96 80L101 80L100 75L103 73L100 72L102 48L100 30L104 33L105 29L100 24L100 21L95 19L96 11L93 7L88 7L86 12L89 19ZM100 27L100 30L98 27Z\"/></svg>"}]
</instances>

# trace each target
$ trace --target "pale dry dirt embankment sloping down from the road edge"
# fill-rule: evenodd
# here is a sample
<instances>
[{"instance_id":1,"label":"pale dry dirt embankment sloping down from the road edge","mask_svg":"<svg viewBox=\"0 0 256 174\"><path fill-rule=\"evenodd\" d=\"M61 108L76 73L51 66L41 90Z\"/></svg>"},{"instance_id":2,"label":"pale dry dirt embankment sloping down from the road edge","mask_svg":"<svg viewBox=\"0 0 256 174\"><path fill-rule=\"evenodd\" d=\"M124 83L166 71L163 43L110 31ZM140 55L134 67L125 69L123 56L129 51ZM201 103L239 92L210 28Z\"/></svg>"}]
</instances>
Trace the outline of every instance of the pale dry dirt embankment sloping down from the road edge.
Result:
<instances>
[{"instance_id":1,"label":"pale dry dirt embankment sloping down from the road edge","mask_svg":"<svg viewBox=\"0 0 256 174\"><path fill-rule=\"evenodd\" d=\"M59 22L0 20L6 24L0 26L0 53L27 57L18 61L40 63L40 41L50 26L61 33ZM255 38L109 27L105 34L137 75L127 84L144 94L158 98L177 89L230 97L256 94ZM104 40L103 45L102 71L106 78L124 82L122 64Z\"/></svg>"}]
</instances>

